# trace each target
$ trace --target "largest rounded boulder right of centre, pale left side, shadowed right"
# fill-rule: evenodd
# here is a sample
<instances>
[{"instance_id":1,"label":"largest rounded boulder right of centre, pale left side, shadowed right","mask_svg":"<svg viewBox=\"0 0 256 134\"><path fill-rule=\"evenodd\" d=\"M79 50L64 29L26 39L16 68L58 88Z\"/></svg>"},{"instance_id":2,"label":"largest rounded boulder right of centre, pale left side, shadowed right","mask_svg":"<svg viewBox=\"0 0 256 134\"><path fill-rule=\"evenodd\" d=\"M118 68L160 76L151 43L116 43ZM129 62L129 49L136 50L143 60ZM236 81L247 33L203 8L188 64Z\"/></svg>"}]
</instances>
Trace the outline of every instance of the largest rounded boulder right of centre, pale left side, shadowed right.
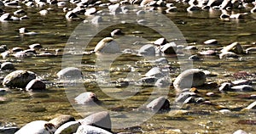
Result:
<instances>
[{"instance_id":1,"label":"largest rounded boulder right of centre, pale left side, shadowed right","mask_svg":"<svg viewBox=\"0 0 256 134\"><path fill-rule=\"evenodd\" d=\"M180 75L177 76L176 80L173 82L173 86L177 90L190 87L199 87L202 86L206 80L206 74L203 72L203 70L189 69L184 70Z\"/></svg>"}]
</instances>

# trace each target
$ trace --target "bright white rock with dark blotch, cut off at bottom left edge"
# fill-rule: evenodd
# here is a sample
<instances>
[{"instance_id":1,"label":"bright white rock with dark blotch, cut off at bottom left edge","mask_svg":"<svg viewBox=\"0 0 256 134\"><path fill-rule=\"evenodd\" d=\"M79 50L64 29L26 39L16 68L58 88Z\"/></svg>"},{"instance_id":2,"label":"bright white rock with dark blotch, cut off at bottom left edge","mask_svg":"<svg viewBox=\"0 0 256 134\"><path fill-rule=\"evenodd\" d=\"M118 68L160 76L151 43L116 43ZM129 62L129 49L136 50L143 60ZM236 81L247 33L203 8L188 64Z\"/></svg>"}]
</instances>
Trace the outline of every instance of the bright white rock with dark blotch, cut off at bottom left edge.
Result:
<instances>
[{"instance_id":1,"label":"bright white rock with dark blotch, cut off at bottom left edge","mask_svg":"<svg viewBox=\"0 0 256 134\"><path fill-rule=\"evenodd\" d=\"M53 124L44 120L36 120L21 127L19 131L15 132L15 134L53 134L55 130L56 129Z\"/></svg>"}]
</instances>

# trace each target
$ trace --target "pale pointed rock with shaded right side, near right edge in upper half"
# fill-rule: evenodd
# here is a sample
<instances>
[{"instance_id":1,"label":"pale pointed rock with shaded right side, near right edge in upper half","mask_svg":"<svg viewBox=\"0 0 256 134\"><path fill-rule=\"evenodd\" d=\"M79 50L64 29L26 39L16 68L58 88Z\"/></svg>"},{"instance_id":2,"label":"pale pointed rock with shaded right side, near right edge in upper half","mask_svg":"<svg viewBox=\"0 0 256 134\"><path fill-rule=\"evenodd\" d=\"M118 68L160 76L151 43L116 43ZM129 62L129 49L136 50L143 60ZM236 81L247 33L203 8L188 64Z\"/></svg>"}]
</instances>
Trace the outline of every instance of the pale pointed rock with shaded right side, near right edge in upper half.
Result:
<instances>
[{"instance_id":1,"label":"pale pointed rock with shaded right side, near right edge in upper half","mask_svg":"<svg viewBox=\"0 0 256 134\"><path fill-rule=\"evenodd\" d=\"M220 50L221 53L224 52L233 52L236 54L241 54L243 53L241 44L239 42L233 42L230 45L224 47L222 50Z\"/></svg>"}]
</instances>

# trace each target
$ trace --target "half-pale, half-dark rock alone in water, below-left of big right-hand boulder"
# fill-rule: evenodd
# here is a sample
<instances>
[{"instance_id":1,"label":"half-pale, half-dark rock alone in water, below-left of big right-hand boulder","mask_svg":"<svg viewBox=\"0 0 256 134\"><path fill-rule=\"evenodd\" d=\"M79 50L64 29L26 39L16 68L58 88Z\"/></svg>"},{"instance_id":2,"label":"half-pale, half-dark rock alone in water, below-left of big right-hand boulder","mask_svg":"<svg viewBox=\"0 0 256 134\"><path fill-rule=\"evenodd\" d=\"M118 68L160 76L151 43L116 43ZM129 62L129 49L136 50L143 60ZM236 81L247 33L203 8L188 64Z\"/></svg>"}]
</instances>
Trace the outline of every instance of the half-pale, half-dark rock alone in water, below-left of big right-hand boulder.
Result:
<instances>
[{"instance_id":1,"label":"half-pale, half-dark rock alone in water, below-left of big right-hand boulder","mask_svg":"<svg viewBox=\"0 0 256 134\"><path fill-rule=\"evenodd\" d=\"M159 97L159 98L155 98L153 101L148 103L146 108L153 111L169 110L170 102L165 97Z\"/></svg>"}]
</instances>

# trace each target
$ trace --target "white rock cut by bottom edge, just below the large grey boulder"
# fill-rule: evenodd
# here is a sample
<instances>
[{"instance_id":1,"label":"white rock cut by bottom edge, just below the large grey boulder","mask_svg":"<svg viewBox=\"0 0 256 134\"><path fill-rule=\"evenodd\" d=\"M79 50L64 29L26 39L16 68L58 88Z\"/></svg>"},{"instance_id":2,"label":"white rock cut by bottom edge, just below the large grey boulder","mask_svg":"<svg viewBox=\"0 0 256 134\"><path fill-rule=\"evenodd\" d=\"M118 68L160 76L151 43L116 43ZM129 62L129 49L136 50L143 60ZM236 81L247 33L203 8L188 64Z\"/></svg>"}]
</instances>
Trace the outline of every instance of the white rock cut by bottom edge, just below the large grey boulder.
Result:
<instances>
[{"instance_id":1,"label":"white rock cut by bottom edge, just below the large grey boulder","mask_svg":"<svg viewBox=\"0 0 256 134\"><path fill-rule=\"evenodd\" d=\"M99 127L96 126L86 126L86 125L82 125L79 126L78 131L74 134L112 134L109 131L105 131Z\"/></svg>"}]
</instances>

